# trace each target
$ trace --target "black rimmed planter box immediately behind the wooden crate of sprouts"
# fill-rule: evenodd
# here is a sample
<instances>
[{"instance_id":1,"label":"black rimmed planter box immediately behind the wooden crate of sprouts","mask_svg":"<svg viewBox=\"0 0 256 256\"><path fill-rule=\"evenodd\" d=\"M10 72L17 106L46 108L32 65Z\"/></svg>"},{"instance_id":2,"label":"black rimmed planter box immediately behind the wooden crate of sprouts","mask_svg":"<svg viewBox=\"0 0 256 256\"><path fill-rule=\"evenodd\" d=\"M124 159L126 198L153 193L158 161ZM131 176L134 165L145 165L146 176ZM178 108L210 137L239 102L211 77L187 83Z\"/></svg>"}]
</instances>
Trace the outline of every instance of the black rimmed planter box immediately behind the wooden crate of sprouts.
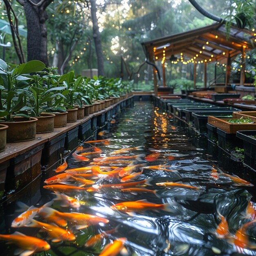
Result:
<instances>
[{"instance_id":1,"label":"black rimmed planter box immediately behind the wooden crate of sprouts","mask_svg":"<svg viewBox=\"0 0 256 256\"><path fill-rule=\"evenodd\" d=\"M218 110L213 110L212 108L211 110L195 111L192 113L195 130L198 130L200 133L207 132L208 116L223 118L228 115L232 116L234 111L238 111L237 108L219 108Z\"/></svg>"}]
</instances>

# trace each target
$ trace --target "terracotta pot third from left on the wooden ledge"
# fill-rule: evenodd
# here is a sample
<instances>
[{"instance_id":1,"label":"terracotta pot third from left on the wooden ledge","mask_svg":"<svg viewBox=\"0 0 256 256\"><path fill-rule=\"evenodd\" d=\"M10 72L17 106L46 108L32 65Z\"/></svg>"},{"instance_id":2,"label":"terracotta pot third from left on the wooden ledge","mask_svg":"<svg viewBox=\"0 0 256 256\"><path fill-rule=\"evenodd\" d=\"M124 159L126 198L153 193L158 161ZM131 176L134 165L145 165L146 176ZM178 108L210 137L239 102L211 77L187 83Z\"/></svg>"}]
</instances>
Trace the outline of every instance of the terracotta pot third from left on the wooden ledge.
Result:
<instances>
[{"instance_id":1,"label":"terracotta pot third from left on the wooden ledge","mask_svg":"<svg viewBox=\"0 0 256 256\"><path fill-rule=\"evenodd\" d=\"M53 132L54 129L54 114L41 113L40 117L36 117L36 133Z\"/></svg>"}]
</instances>

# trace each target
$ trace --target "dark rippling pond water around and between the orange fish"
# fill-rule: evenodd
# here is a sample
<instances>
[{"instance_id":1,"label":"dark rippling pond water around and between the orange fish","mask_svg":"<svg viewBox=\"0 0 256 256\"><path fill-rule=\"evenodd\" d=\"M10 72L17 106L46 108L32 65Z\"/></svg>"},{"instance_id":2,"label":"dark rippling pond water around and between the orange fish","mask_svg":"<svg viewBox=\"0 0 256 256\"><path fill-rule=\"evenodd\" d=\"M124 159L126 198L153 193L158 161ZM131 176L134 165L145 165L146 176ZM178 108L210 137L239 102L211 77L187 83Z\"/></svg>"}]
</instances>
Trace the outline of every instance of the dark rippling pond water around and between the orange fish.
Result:
<instances>
[{"instance_id":1,"label":"dark rippling pond water around and between the orange fish","mask_svg":"<svg viewBox=\"0 0 256 256\"><path fill-rule=\"evenodd\" d=\"M238 229L245 223L252 221L254 216L246 214L249 201L254 201L253 186L245 186L234 182L225 173L239 173L239 177L252 183L250 177L253 171L243 167L243 164L229 159L227 155L207 144L204 137L195 133L168 114L154 108L150 103L137 103L133 109L127 110L112 124L109 133L99 139L110 138L109 145L93 144L102 150L101 154L88 155L90 162L96 157L119 156L104 166L125 167L128 164L144 164L143 172L135 181L147 179L147 184L130 186L140 189L157 190L156 193L123 192L121 188L101 187L96 191L69 191L70 197L80 201L79 209L61 207L60 201L54 201L52 208L61 212L89 213L109 220L98 225L89 225L85 229L75 229L74 223L68 223L67 228L76 236L71 242L49 242L51 249L37 255L49 256L83 256L99 255L105 245L118 238L127 238L124 243L124 255L132 256L167 256L167 255L256 255L256 225L250 223L243 229L245 243L239 247L234 245L234 238ZM83 147L89 147L83 144ZM117 155L113 151L143 146L142 150L128 150ZM140 159L129 159L125 162L121 156L144 154ZM153 155L152 155L153 154ZM148 157L149 156L149 157ZM115 162L113 162L115 161ZM67 159L68 169L90 166L90 162L76 162L72 156ZM159 166L158 169L148 166ZM135 172L141 169L135 168ZM215 171L215 172L214 172ZM217 173L217 174L216 174ZM240 175L241 174L241 175ZM43 181L56 175L52 172L43 175L41 184L37 181L39 200L36 207L42 206L55 196L47 189L43 189ZM255 179L255 178L254 178ZM120 183L118 176L106 179L92 179L95 185ZM175 182L197 187L184 188L179 186L157 186L157 183ZM71 182L78 186L79 182ZM45 185L45 184L44 184ZM92 185L85 186L91 187ZM99 186L97 188L99 188ZM168 211L152 207L151 209L134 210L132 212L112 210L110 207L125 201L148 200L155 204L168 204ZM28 198L18 198L19 201L29 204ZM32 203L31 203L32 204ZM29 204L29 206L31 205ZM142 203L141 203L142 204ZM255 207L254 202L252 202ZM38 233L38 228L21 227L11 228L11 222L20 213L15 212L18 207L9 207L5 211L5 223L10 233L20 231L29 236L47 239L45 232ZM129 215L129 214L130 215ZM227 235L218 238L216 229L221 217L227 220ZM41 217L35 218L44 222ZM95 234L115 229L109 232L96 245L85 247L85 243ZM104 233L105 234L105 233ZM1 242L1 255L13 255L13 245ZM16 248L16 247L15 247ZM124 251L122 251L124 253ZM106 254L122 255L122 254Z\"/></svg>"}]
</instances>

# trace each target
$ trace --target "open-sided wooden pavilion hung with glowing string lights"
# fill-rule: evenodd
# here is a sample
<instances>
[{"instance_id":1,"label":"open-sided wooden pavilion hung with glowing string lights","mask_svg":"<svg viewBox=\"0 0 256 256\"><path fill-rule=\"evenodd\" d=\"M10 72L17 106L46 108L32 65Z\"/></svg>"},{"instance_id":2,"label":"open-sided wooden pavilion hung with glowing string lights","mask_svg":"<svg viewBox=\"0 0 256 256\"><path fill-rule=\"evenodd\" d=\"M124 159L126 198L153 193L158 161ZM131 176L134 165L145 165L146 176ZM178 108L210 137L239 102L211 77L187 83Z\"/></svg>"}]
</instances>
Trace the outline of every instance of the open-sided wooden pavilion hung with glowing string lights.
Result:
<instances>
[{"instance_id":1,"label":"open-sided wooden pavilion hung with glowing string lights","mask_svg":"<svg viewBox=\"0 0 256 256\"><path fill-rule=\"evenodd\" d=\"M231 26L229 39L222 23L215 23L199 29L157 38L142 43L146 58L151 63L161 61L163 69L163 85L165 86L166 60L194 65L194 86L196 83L196 65L204 63L204 88L207 86L207 64L210 62L225 63L225 85L229 84L231 61L242 53L240 65L240 85L245 81L246 51L255 48L256 31L248 31ZM171 57L171 58L170 58ZM238 71L239 71L238 70ZM157 69L154 68L155 92L157 92Z\"/></svg>"}]
</instances>

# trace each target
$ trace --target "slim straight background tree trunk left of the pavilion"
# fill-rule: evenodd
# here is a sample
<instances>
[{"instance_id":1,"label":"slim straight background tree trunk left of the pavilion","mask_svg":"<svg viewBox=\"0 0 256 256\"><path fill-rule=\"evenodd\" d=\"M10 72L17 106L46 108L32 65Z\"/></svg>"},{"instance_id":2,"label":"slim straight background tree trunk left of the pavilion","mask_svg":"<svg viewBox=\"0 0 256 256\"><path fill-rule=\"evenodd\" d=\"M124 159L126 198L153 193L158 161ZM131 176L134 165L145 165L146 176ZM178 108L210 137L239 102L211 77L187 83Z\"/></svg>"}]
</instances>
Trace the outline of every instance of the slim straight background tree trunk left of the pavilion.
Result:
<instances>
[{"instance_id":1,"label":"slim straight background tree trunk left of the pavilion","mask_svg":"<svg viewBox=\"0 0 256 256\"><path fill-rule=\"evenodd\" d=\"M98 59L98 74L99 76L104 76L104 59L101 47L101 36L99 32L98 20L96 16L96 1L90 0L91 3L91 15L92 15L92 25L93 25L93 38L96 48L96 54Z\"/></svg>"}]
</instances>

